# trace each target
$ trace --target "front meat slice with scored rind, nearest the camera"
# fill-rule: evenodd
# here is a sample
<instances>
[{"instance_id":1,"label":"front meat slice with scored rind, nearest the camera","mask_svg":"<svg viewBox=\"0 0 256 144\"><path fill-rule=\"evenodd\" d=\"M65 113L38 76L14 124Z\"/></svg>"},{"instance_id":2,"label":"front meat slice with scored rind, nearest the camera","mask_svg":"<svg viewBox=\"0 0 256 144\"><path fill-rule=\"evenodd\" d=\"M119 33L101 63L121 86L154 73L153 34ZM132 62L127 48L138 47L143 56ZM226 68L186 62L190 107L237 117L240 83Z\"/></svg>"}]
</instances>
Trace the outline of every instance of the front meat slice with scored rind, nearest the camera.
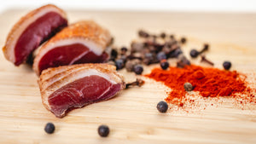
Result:
<instances>
[{"instance_id":1,"label":"front meat slice with scored rind, nearest the camera","mask_svg":"<svg viewBox=\"0 0 256 144\"><path fill-rule=\"evenodd\" d=\"M97 101L106 101L125 88L125 82L108 64L77 64L44 70L38 80L42 102L56 117Z\"/></svg>"}]
</instances>

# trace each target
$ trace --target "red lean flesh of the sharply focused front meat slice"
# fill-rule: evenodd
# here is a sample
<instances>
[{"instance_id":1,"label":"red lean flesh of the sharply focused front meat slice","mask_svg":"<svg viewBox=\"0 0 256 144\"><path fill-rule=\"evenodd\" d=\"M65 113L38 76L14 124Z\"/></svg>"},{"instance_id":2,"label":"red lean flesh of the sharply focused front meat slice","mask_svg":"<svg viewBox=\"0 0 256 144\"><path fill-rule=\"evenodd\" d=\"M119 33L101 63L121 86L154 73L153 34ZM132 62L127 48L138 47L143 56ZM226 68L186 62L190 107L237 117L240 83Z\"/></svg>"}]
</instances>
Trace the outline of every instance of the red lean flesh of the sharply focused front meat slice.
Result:
<instances>
[{"instance_id":1,"label":"red lean flesh of the sharply focused front meat slice","mask_svg":"<svg viewBox=\"0 0 256 144\"><path fill-rule=\"evenodd\" d=\"M120 90L120 84L112 84L107 79L91 75L80 78L49 95L50 111L56 117L63 117L73 107L84 107L96 101L108 100Z\"/></svg>"}]
</instances>

